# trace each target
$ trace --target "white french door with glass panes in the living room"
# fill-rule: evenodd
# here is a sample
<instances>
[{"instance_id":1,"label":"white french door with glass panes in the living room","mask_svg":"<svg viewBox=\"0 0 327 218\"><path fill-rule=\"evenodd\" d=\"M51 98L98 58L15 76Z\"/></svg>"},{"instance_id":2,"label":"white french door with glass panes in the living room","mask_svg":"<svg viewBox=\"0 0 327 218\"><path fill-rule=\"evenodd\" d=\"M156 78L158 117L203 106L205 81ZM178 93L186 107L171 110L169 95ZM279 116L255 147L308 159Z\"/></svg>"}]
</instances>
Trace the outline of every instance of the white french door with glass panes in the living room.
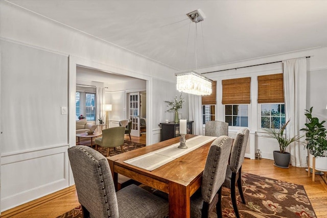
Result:
<instances>
[{"instance_id":1,"label":"white french door with glass panes in the living room","mask_svg":"<svg viewBox=\"0 0 327 218\"><path fill-rule=\"evenodd\" d=\"M139 92L128 94L128 118L132 120L131 135L139 137Z\"/></svg>"}]
</instances>

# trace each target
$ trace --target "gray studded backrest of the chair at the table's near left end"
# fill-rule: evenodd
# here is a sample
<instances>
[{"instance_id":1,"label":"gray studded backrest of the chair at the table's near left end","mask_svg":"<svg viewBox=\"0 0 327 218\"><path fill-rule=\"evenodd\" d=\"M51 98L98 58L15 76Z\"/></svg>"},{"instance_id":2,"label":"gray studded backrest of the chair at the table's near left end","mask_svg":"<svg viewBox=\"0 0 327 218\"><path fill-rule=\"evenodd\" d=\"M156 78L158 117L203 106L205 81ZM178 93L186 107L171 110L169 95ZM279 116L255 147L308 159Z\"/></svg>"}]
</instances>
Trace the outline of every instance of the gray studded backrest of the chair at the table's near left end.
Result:
<instances>
[{"instance_id":1,"label":"gray studded backrest of the chair at the table's near left end","mask_svg":"<svg viewBox=\"0 0 327 218\"><path fill-rule=\"evenodd\" d=\"M118 203L108 160L88 146L68 149L78 201L91 217L118 217Z\"/></svg>"}]
</instances>

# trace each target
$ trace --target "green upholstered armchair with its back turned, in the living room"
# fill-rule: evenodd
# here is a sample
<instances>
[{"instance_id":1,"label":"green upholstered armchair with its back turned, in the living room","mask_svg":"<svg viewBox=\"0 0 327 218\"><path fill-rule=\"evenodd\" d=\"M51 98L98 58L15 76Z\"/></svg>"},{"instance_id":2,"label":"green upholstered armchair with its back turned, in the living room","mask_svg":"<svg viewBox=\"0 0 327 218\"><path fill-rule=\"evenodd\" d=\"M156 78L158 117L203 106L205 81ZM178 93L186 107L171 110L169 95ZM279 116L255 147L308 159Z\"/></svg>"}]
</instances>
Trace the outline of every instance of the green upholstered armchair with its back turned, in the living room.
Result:
<instances>
[{"instance_id":1,"label":"green upholstered armchair with its back turned, in the living room","mask_svg":"<svg viewBox=\"0 0 327 218\"><path fill-rule=\"evenodd\" d=\"M125 127L112 127L102 130L102 137L96 138L96 150L98 151L98 146L107 148L107 157L109 156L110 148L121 147L122 152L124 152L124 135Z\"/></svg>"}]
</instances>

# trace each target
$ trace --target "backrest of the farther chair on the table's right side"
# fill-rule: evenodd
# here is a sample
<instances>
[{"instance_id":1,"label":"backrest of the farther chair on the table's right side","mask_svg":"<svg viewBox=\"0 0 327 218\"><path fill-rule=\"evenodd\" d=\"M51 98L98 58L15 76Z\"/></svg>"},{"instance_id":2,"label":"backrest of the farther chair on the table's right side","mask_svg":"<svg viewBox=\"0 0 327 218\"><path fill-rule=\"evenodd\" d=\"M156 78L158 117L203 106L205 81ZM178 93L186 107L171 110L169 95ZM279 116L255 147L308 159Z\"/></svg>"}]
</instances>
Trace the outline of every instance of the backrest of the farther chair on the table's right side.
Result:
<instances>
[{"instance_id":1,"label":"backrest of the farther chair on the table's right side","mask_svg":"<svg viewBox=\"0 0 327 218\"><path fill-rule=\"evenodd\" d=\"M232 172L237 173L244 161L247 140L249 138L249 130L244 128L236 133L233 146L230 151L229 165Z\"/></svg>"}]
</instances>

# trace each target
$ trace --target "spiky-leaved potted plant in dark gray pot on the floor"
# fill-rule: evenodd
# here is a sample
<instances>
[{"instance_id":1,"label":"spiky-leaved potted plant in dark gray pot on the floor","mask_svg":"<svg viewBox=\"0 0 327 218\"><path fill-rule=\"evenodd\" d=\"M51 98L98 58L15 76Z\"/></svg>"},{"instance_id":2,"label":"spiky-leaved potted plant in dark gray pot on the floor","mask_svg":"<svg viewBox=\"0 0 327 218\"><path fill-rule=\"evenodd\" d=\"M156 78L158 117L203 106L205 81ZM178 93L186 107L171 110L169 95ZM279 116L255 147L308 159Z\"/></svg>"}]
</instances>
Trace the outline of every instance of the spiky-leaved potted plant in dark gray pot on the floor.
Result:
<instances>
[{"instance_id":1,"label":"spiky-leaved potted plant in dark gray pot on the floor","mask_svg":"<svg viewBox=\"0 0 327 218\"><path fill-rule=\"evenodd\" d=\"M290 119L281 127L281 129L275 129L272 125L271 129L263 129L267 135L266 138L274 138L278 141L279 151L273 151L274 165L281 168L288 168L291 160L291 154L286 152L286 148L294 141L298 141L303 136L294 135L292 138L288 138L284 131L287 125L290 123Z\"/></svg>"}]
</instances>

